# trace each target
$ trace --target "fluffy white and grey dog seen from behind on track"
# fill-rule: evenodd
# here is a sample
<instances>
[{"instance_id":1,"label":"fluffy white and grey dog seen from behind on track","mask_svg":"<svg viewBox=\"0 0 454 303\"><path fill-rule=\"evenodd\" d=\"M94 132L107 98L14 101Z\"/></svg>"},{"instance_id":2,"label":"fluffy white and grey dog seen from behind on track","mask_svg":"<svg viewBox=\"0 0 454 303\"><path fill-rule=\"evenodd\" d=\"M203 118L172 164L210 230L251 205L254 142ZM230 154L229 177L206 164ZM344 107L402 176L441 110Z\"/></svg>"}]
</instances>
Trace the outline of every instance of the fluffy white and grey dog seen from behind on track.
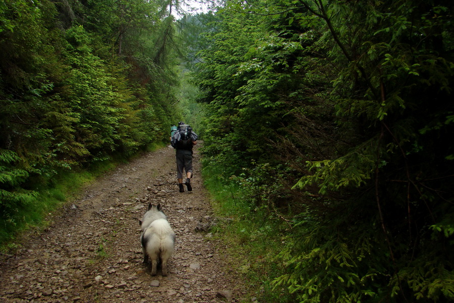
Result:
<instances>
[{"instance_id":1,"label":"fluffy white and grey dog seen from behind on track","mask_svg":"<svg viewBox=\"0 0 454 303\"><path fill-rule=\"evenodd\" d=\"M140 243L143 250L143 263L151 260L151 275L156 275L157 263L161 262L162 275L167 275L167 260L172 256L175 247L175 233L161 211L161 205L148 205L140 224Z\"/></svg>"}]
</instances>

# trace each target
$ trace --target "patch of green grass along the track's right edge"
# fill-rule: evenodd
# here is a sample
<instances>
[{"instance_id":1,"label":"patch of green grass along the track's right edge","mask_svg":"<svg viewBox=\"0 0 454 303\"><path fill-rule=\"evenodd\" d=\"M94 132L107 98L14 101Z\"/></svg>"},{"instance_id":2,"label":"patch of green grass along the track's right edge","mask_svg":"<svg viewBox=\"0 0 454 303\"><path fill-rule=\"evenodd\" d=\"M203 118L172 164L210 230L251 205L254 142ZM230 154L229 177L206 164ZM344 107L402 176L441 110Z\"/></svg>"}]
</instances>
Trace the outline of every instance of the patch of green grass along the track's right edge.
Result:
<instances>
[{"instance_id":1,"label":"patch of green grass along the track's right edge","mask_svg":"<svg viewBox=\"0 0 454 303\"><path fill-rule=\"evenodd\" d=\"M246 301L252 298L259 302L291 301L285 289L274 289L272 285L283 271L277 256L288 225L266 207L257 207L247 188L225 182L215 169L205 167L202 176L216 216L224 219L211 232L225 244L230 269L249 285Z\"/></svg>"}]
</instances>

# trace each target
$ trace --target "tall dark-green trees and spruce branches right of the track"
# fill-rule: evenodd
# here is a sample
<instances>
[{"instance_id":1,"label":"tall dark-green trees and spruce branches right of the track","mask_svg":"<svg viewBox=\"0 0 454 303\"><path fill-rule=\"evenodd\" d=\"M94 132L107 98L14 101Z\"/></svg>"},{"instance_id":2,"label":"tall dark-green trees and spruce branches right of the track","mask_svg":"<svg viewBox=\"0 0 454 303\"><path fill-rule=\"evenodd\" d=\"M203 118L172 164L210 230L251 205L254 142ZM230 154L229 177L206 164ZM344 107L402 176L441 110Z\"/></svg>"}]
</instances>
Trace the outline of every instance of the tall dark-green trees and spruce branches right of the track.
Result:
<instances>
[{"instance_id":1,"label":"tall dark-green trees and spruce branches right of the track","mask_svg":"<svg viewBox=\"0 0 454 303\"><path fill-rule=\"evenodd\" d=\"M205 165L256 166L262 203L299 214L276 289L454 298L452 14L450 1L258 0L216 15L198 65Z\"/></svg>"}]
</instances>

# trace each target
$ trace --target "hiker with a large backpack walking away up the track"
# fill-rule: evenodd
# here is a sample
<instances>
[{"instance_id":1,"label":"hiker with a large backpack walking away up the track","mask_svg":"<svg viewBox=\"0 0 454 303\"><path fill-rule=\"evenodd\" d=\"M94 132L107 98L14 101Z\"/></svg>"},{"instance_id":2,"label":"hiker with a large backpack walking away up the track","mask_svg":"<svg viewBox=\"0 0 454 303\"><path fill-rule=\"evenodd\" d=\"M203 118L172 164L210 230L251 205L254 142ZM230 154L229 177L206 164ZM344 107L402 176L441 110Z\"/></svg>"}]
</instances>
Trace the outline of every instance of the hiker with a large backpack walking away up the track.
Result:
<instances>
[{"instance_id":1,"label":"hiker with a large backpack walking away up the track","mask_svg":"<svg viewBox=\"0 0 454 303\"><path fill-rule=\"evenodd\" d=\"M180 192L185 192L183 186L183 170L186 172L185 184L188 191L192 191L191 178L192 174L192 148L197 144L197 134L192 131L191 126L184 122L178 123L178 128L172 128L171 144L177 149L177 179L180 186Z\"/></svg>"}]
</instances>

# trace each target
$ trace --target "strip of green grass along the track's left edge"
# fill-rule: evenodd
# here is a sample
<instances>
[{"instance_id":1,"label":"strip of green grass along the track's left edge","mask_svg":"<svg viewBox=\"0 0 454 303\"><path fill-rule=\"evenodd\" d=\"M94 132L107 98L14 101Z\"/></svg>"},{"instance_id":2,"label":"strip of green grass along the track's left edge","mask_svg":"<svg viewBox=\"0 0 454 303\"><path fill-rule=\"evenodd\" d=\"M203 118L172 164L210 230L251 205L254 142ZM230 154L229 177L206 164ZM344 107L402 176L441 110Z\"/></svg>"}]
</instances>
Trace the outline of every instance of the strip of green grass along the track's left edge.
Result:
<instances>
[{"instance_id":1,"label":"strip of green grass along the track's left edge","mask_svg":"<svg viewBox=\"0 0 454 303\"><path fill-rule=\"evenodd\" d=\"M147 146L146 151L163 147L164 143ZM23 207L17 207L14 214L0 216L0 252L12 252L20 247L21 236L26 232L41 232L49 224L54 213L59 208L80 197L81 188L95 181L108 171L115 169L142 155L142 151L126 159L118 156L111 160L96 162L86 169L77 168L58 172L47 182L37 182L30 186L37 197Z\"/></svg>"}]
</instances>

